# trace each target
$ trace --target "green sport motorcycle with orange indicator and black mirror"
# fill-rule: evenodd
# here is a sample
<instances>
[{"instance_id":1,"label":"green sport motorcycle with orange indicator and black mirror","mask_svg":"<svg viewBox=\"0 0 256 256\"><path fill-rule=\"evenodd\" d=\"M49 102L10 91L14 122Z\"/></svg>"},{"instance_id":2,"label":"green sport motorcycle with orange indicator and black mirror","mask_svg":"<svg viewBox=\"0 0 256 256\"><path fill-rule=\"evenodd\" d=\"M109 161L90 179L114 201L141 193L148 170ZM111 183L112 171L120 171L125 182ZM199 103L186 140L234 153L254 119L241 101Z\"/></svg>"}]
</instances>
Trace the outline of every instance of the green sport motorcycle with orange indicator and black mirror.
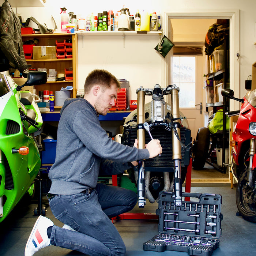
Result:
<instances>
[{"instance_id":1,"label":"green sport motorcycle with orange indicator and black mirror","mask_svg":"<svg viewBox=\"0 0 256 256\"><path fill-rule=\"evenodd\" d=\"M46 72L33 71L19 86L0 73L0 222L25 193L34 192L34 179L41 166L37 137L42 116L36 95L21 89L46 81Z\"/></svg>"}]
</instances>

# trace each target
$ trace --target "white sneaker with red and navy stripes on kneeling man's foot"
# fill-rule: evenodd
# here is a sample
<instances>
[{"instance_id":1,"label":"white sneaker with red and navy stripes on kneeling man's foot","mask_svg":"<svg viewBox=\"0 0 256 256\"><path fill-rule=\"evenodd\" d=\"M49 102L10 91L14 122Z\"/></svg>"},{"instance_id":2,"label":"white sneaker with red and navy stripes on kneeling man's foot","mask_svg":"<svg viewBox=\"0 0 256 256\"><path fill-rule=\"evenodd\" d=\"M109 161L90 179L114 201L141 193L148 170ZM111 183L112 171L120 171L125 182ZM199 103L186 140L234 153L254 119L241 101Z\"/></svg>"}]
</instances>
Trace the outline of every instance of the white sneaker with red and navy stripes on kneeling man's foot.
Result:
<instances>
[{"instance_id":1,"label":"white sneaker with red and navy stripes on kneeling man's foot","mask_svg":"<svg viewBox=\"0 0 256 256\"><path fill-rule=\"evenodd\" d=\"M32 256L39 249L50 245L50 238L47 236L47 229L53 226L53 222L40 215L30 233L25 247L25 256Z\"/></svg>"}]
</instances>

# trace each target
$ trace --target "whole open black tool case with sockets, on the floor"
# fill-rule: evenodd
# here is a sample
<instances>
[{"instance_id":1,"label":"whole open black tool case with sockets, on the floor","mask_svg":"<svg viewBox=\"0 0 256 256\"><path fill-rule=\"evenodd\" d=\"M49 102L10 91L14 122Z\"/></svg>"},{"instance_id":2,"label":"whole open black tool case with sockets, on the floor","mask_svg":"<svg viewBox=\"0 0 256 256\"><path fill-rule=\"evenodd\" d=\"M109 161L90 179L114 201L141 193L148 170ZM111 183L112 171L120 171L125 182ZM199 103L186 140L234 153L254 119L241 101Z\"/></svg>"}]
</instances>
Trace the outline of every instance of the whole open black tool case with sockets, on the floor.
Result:
<instances>
[{"instance_id":1,"label":"whole open black tool case with sockets, on the floor","mask_svg":"<svg viewBox=\"0 0 256 256\"><path fill-rule=\"evenodd\" d=\"M156 210L159 234L145 242L143 250L210 256L219 247L222 196L182 193L182 197L194 197L195 201L182 201L182 205L177 207L173 192L159 193Z\"/></svg>"}]
</instances>

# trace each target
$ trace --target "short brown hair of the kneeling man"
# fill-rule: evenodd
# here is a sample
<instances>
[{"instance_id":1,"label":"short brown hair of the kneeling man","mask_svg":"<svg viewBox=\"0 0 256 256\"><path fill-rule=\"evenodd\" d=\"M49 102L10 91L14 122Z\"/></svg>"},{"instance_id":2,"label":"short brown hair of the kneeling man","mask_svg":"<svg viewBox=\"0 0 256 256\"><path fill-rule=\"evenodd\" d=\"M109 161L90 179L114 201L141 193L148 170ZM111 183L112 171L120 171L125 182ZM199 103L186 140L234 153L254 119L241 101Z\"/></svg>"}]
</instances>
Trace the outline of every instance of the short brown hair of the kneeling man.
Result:
<instances>
[{"instance_id":1,"label":"short brown hair of the kneeling man","mask_svg":"<svg viewBox=\"0 0 256 256\"><path fill-rule=\"evenodd\" d=\"M120 89L118 79L104 69L94 69L89 73L84 83L84 94L88 94L96 84L105 88L110 88L112 84L116 84L116 87Z\"/></svg>"}]
</instances>

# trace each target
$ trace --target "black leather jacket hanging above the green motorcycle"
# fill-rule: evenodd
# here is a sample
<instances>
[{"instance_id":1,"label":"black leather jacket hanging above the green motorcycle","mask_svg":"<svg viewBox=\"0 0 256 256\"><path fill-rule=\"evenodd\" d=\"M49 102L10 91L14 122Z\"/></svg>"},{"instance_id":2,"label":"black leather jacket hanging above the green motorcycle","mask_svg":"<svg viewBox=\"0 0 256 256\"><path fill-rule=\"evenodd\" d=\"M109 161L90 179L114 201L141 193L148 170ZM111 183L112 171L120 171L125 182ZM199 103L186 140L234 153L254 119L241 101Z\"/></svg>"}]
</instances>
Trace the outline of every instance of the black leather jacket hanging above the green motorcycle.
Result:
<instances>
[{"instance_id":1,"label":"black leather jacket hanging above the green motorcycle","mask_svg":"<svg viewBox=\"0 0 256 256\"><path fill-rule=\"evenodd\" d=\"M0 10L0 71L15 68L26 76L29 67L23 52L20 20L6 0Z\"/></svg>"}]
</instances>

